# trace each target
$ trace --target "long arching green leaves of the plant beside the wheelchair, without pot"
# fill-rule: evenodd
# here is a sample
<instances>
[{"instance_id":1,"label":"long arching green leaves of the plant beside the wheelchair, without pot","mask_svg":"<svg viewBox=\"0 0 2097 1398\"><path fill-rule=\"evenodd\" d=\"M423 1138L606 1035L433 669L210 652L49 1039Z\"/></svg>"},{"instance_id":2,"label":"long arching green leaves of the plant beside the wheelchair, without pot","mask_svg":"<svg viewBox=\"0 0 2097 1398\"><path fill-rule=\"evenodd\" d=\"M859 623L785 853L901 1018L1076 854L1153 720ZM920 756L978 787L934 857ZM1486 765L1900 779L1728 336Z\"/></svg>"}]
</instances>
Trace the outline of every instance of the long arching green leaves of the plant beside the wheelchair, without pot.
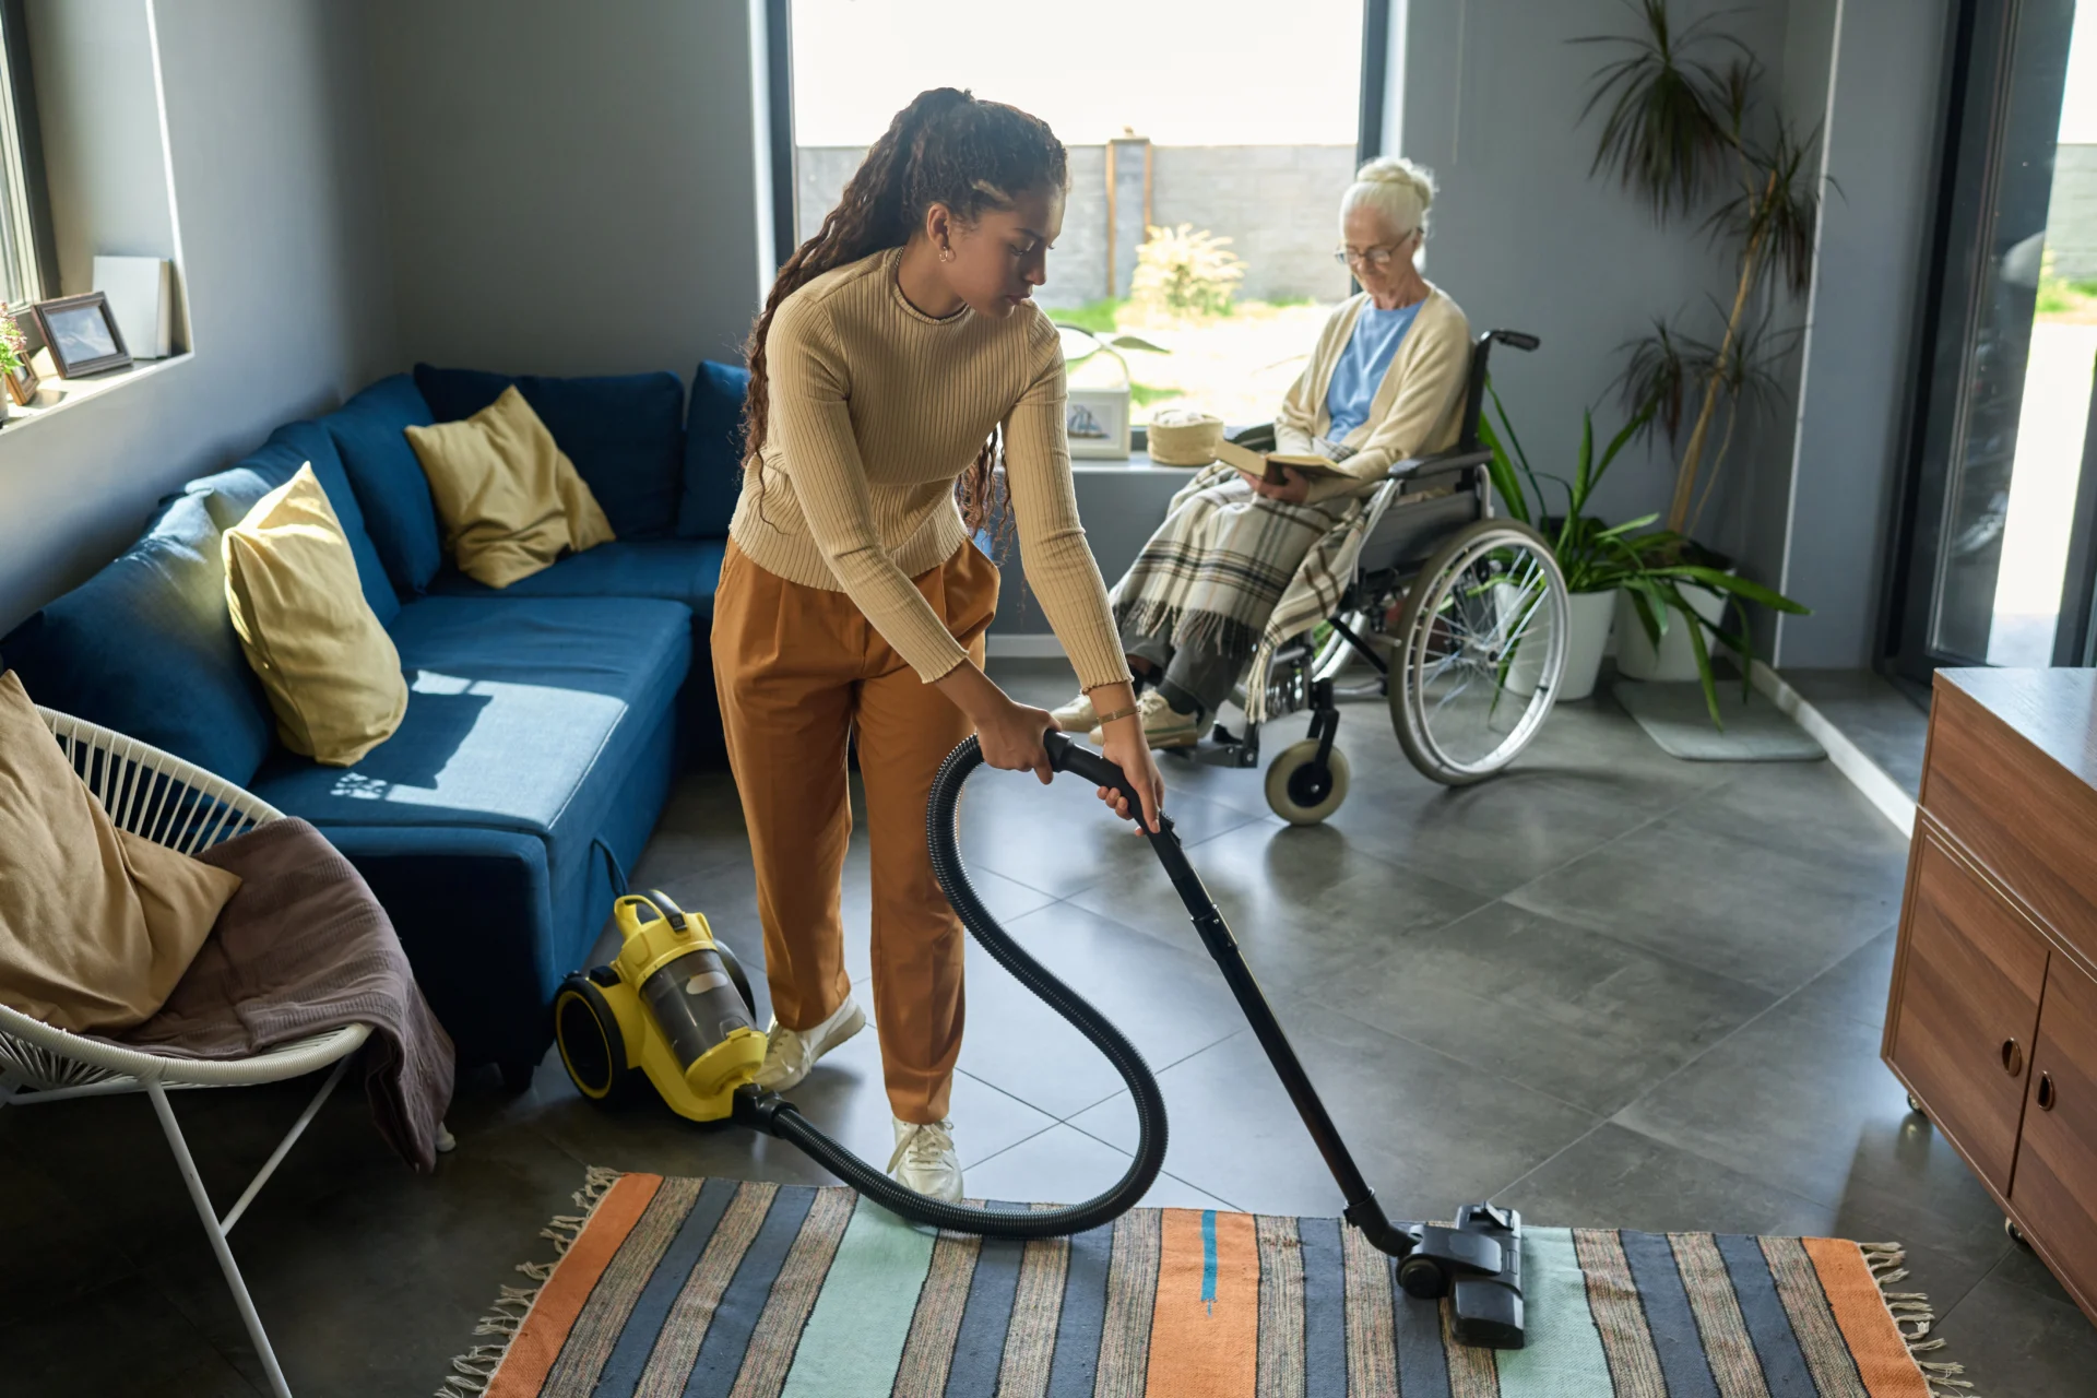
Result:
<instances>
[{"instance_id":1,"label":"long arching green leaves of the plant beside the wheelchair, without pot","mask_svg":"<svg viewBox=\"0 0 2097 1398\"><path fill-rule=\"evenodd\" d=\"M1711 669L1711 646L1705 639L1705 631L1738 656L1743 694L1747 692L1755 660L1755 641L1747 627L1728 631L1722 622L1701 616L1690 606L1684 589L1755 602L1778 612L1803 614L1806 608L1761 583L1724 572L1722 568L1686 562L1686 539L1682 534L1669 528L1650 528L1659 522L1659 514L1625 520L1623 524L1602 524L1602 520L1587 514L1587 501L1594 497L1596 486L1602 484L1602 476L1608 474L1608 467L1623 453L1625 444L1644 432L1655 413L1652 405L1646 405L1623 423L1600 457L1594 453L1594 411L1583 411L1579 453L1573 459L1573 476L1566 478L1556 472L1539 472L1529 463L1529 455L1514 432L1514 421L1508 417L1508 407L1499 400L1497 390L1491 386L1487 390L1493 394L1493 413L1499 425L1480 421L1478 438L1493 453L1487 472L1508 514L1543 534L1552 555L1558 560L1558 570L1564 572L1566 591L1600 593L1623 589L1629 593L1631 608L1638 612L1638 625L1655 646L1667 633L1669 614L1680 614L1688 627L1690 652L1696 656L1696 679L1703 685L1705 708L1711 713L1711 723L1724 729L1726 719L1717 708L1717 673ZM1558 495L1564 499L1564 514L1550 514L1552 493L1545 490L1545 482L1558 486Z\"/></svg>"}]
</instances>

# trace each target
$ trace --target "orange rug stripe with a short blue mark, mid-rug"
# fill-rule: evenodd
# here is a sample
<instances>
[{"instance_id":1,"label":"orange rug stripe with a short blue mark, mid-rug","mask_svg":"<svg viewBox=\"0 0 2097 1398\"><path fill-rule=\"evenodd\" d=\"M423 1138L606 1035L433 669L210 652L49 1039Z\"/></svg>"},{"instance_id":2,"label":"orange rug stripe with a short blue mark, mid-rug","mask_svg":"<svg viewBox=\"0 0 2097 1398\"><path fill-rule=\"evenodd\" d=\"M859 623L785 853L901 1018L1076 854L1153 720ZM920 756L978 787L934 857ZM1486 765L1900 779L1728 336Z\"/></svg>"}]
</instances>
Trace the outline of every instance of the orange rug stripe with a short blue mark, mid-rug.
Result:
<instances>
[{"instance_id":1,"label":"orange rug stripe with a short blue mark, mid-rug","mask_svg":"<svg viewBox=\"0 0 2097 1398\"><path fill-rule=\"evenodd\" d=\"M1252 1398L1260 1377L1260 1245L1250 1214L1164 1209L1153 1398Z\"/></svg>"}]
</instances>

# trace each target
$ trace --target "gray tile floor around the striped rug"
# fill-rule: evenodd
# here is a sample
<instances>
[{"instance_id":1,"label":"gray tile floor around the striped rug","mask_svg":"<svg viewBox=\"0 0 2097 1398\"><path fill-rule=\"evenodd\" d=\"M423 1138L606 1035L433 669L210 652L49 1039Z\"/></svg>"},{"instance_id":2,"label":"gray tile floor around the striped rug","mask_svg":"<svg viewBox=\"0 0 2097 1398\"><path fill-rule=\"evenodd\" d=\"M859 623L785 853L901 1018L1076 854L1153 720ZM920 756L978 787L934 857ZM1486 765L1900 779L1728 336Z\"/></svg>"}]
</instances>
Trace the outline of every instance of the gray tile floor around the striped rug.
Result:
<instances>
[{"instance_id":1,"label":"gray tile floor around the striped rug","mask_svg":"<svg viewBox=\"0 0 2097 1398\"><path fill-rule=\"evenodd\" d=\"M1000 667L1057 702L1067 673ZM2097 1331L1877 1061L1904 840L1826 763L1694 765L1613 704L1449 792L1350 706L1355 792L1290 830L1258 773L1170 761L1193 859L1392 1211L1495 1195L1537 1222L1898 1239L1977 1394L2097 1392ZM1000 918L1122 1023L1172 1111L1155 1203L1332 1214L1338 1197L1147 849L1067 784L986 773L965 853ZM635 870L755 949L734 790L688 778ZM856 843L847 924L864 929ZM866 975L864 933L851 966ZM994 966L969 983L954 1115L971 1193L1072 1199L1132 1134L1118 1079ZM874 1035L795 1094L889 1144ZM302 1090L178 1100L231 1199ZM822 1180L780 1142L600 1113L558 1061L461 1084L459 1151L403 1172L333 1102L233 1237L294 1388L428 1394L583 1165ZM0 1392L262 1392L138 1100L0 1113Z\"/></svg>"}]
</instances>

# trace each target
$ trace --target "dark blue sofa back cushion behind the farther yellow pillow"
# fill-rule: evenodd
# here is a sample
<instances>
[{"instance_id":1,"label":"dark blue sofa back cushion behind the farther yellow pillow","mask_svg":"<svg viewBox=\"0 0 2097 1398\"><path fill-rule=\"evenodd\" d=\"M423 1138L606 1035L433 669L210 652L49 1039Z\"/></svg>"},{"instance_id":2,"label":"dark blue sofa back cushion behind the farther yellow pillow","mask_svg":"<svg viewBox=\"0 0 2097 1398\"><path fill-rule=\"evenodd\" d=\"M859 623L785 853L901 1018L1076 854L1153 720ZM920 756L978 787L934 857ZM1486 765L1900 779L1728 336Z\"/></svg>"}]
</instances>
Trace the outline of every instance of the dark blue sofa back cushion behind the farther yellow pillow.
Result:
<instances>
[{"instance_id":1,"label":"dark blue sofa back cushion behind the farther yellow pillow","mask_svg":"<svg viewBox=\"0 0 2097 1398\"><path fill-rule=\"evenodd\" d=\"M512 379L480 369L415 365L415 386L436 421L472 417L505 388L518 392L568 453L621 539L665 539L677 522L684 461L684 384L675 373Z\"/></svg>"}]
</instances>

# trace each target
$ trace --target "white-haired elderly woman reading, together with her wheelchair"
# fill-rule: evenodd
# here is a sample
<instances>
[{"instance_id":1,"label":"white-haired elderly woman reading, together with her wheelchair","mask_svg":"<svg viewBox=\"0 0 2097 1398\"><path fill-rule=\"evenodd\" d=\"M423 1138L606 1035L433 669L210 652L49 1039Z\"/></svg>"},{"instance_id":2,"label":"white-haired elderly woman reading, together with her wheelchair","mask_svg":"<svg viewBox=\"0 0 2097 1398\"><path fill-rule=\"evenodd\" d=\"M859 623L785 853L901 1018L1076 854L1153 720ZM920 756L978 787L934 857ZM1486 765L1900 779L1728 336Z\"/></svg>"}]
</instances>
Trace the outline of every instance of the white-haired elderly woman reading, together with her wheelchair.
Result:
<instances>
[{"instance_id":1,"label":"white-haired elderly woman reading, together with her wheelchair","mask_svg":"<svg viewBox=\"0 0 2097 1398\"><path fill-rule=\"evenodd\" d=\"M1195 748L1239 677L1246 727L1216 725L1202 761L1256 767L1260 723L1311 711L1309 738L1267 771L1267 803L1296 824L1346 799L1334 677L1348 650L1380 675L1413 767L1451 786L1514 761L1564 667L1564 576L1535 530L1493 518L1478 425L1493 344L1537 340L1493 329L1472 344L1464 312L1413 266L1432 197L1405 159L1361 168L1336 256L1363 291L1325 323L1271 432L1235 438L1338 469L1271 484L1206 467L1111 593L1153 748ZM1099 742L1084 696L1055 721Z\"/></svg>"}]
</instances>

